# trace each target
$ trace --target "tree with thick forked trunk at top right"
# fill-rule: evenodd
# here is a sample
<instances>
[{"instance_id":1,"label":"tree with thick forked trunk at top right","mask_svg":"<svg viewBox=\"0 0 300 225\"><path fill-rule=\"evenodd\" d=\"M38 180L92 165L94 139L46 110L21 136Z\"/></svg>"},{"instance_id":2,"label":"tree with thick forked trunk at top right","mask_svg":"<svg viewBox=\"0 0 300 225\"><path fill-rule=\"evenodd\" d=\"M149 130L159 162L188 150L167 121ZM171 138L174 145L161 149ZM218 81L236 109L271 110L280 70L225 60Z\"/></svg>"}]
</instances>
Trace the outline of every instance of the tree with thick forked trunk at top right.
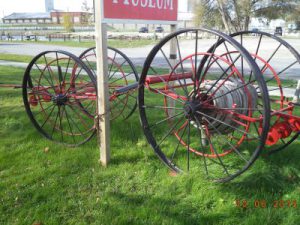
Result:
<instances>
[{"instance_id":1,"label":"tree with thick forked trunk at top right","mask_svg":"<svg viewBox=\"0 0 300 225\"><path fill-rule=\"evenodd\" d=\"M269 20L299 15L295 12L299 0L195 0L194 21L220 20L228 33L248 30L252 17ZM209 7L208 7L209 6ZM209 12L208 12L209 11ZM211 17L213 13L213 17ZM209 22L206 25L212 26Z\"/></svg>"}]
</instances>

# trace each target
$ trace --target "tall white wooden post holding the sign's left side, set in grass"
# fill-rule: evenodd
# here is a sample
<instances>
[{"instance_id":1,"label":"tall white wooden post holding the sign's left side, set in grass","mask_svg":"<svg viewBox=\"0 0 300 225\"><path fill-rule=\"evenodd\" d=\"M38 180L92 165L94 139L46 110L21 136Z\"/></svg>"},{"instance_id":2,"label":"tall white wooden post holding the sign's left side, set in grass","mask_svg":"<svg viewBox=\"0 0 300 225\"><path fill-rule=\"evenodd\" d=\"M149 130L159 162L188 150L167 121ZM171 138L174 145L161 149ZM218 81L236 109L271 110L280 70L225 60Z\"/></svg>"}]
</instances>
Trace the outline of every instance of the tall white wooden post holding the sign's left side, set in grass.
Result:
<instances>
[{"instance_id":1,"label":"tall white wooden post holding the sign's left side, set in grass","mask_svg":"<svg viewBox=\"0 0 300 225\"><path fill-rule=\"evenodd\" d=\"M102 4L95 4L95 30L97 54L97 91L98 91L98 138L100 143L100 163L107 166L110 160L109 91L107 66L107 30L102 22Z\"/></svg>"}]
</instances>

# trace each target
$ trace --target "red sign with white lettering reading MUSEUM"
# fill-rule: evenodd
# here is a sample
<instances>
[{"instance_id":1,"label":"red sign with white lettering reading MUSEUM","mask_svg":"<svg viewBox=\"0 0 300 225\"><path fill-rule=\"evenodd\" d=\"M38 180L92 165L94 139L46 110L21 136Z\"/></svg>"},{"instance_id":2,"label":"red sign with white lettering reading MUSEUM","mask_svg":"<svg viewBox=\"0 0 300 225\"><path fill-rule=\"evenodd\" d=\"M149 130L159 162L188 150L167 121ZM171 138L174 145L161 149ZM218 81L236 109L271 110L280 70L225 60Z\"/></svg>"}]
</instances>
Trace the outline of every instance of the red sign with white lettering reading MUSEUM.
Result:
<instances>
[{"instance_id":1,"label":"red sign with white lettering reading MUSEUM","mask_svg":"<svg viewBox=\"0 0 300 225\"><path fill-rule=\"evenodd\" d=\"M102 4L103 21L108 23L122 20L122 23L168 24L177 21L178 0L102 0Z\"/></svg>"}]
</instances>

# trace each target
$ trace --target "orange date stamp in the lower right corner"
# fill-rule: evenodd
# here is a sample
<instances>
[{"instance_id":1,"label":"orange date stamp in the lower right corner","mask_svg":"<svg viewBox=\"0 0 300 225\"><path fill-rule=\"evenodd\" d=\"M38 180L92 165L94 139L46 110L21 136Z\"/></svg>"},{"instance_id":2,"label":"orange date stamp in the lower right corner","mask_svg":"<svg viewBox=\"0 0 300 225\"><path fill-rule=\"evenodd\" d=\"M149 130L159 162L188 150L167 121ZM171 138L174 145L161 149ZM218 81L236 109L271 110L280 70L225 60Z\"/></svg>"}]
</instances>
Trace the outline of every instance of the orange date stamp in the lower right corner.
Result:
<instances>
[{"instance_id":1,"label":"orange date stamp in the lower right corner","mask_svg":"<svg viewBox=\"0 0 300 225\"><path fill-rule=\"evenodd\" d=\"M283 208L294 208L296 209L298 207L297 201L292 200L265 200L265 199L255 199L255 200L246 200L246 199L236 199L235 200L235 206L237 208L258 208L258 209L264 209L264 208L277 208L277 209L283 209Z\"/></svg>"}]
</instances>

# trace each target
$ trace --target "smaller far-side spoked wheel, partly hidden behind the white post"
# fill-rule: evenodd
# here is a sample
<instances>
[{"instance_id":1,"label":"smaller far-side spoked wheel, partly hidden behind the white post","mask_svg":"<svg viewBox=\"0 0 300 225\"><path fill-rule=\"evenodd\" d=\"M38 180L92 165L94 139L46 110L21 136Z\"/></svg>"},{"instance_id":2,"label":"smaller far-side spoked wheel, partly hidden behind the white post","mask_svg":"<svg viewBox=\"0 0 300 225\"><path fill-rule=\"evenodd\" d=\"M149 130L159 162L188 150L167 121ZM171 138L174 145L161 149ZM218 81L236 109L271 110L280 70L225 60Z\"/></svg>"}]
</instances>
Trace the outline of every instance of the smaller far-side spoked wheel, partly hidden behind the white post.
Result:
<instances>
[{"instance_id":1,"label":"smaller far-side spoked wheel, partly hidden behind the white post","mask_svg":"<svg viewBox=\"0 0 300 225\"><path fill-rule=\"evenodd\" d=\"M79 58L97 75L96 49L84 51ZM137 107L138 73L131 60L121 51L108 47L108 82L110 119L128 119Z\"/></svg>"}]
</instances>

